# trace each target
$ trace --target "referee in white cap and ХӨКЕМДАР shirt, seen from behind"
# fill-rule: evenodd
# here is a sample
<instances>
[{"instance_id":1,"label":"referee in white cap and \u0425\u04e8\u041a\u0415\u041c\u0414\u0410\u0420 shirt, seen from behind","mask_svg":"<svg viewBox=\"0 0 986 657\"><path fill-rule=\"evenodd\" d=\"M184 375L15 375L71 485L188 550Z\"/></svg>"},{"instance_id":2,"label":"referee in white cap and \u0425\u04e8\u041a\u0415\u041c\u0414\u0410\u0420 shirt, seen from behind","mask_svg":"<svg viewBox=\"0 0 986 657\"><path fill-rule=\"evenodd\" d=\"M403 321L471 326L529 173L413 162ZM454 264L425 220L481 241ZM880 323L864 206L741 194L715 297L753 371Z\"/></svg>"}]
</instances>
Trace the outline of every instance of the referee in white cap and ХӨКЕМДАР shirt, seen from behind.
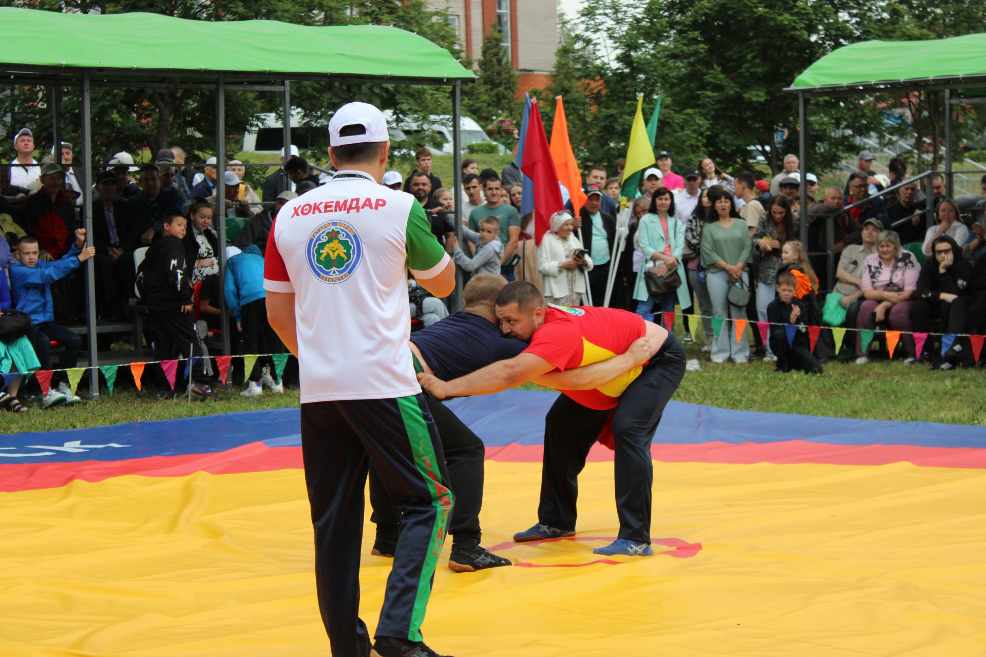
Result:
<instances>
[{"instance_id":1,"label":"referee in white cap and \u0425\u04e8\u041a\u0415\u041c\u0414\u0410\u0420 shirt, seen from behind","mask_svg":"<svg viewBox=\"0 0 986 657\"><path fill-rule=\"evenodd\" d=\"M406 272L448 296L456 267L414 197L378 184L389 150L381 111L350 102L328 131L338 172L278 212L263 284L270 324L300 365L318 607L337 657L438 657L420 627L453 496L407 349ZM370 463L403 513L372 650L359 618Z\"/></svg>"}]
</instances>

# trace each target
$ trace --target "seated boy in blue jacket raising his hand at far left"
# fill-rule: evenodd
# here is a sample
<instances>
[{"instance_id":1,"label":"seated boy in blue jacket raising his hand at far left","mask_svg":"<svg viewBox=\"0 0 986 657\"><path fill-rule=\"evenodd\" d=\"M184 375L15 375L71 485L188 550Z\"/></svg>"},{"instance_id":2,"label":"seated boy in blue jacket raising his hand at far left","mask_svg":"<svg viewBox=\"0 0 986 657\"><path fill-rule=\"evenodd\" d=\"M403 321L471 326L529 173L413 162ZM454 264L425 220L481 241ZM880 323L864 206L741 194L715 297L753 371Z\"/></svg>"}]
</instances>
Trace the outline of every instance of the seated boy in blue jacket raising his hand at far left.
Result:
<instances>
[{"instance_id":1,"label":"seated boy in blue jacket raising his hand at far left","mask_svg":"<svg viewBox=\"0 0 986 657\"><path fill-rule=\"evenodd\" d=\"M65 349L59 363L62 368L75 367L79 360L82 340L78 334L54 323L51 284L71 274L94 255L96 248L86 247L85 229L75 231L72 248L53 262L39 259L40 247L33 235L21 237L18 243L17 260L10 263L11 296L15 308L31 315L31 323L35 328L32 342L41 369L51 369L49 349L52 340L56 340ZM57 389L54 385L56 381ZM62 402L76 404L82 401L69 388L68 376L64 371L55 372L51 377L51 384L48 394L41 401L43 408Z\"/></svg>"}]
</instances>

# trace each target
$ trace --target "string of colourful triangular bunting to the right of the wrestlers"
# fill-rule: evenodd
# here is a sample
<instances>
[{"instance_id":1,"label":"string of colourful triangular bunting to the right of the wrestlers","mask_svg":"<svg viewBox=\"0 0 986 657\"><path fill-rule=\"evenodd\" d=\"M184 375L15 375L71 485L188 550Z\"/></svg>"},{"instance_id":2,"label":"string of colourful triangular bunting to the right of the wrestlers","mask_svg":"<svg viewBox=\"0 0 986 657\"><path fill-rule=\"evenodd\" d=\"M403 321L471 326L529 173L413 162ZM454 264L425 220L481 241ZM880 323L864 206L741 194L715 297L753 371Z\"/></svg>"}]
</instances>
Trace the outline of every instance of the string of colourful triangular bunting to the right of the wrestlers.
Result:
<instances>
[{"instance_id":1,"label":"string of colourful triangular bunting to the right of the wrestlers","mask_svg":"<svg viewBox=\"0 0 986 657\"><path fill-rule=\"evenodd\" d=\"M656 314L656 313L655 313ZM655 314L647 315L654 320ZM682 317L688 317L692 320L699 321L702 319L708 319L712 322L712 332L715 334L716 338L719 338L719 334L723 331L723 325L725 322L733 322L735 324L735 334L737 344L740 344L743 334L746 331L746 326L751 322L746 319L733 319L732 317L706 317L703 315L695 315L690 313L674 313L665 312L664 313L664 324L665 328L669 331L674 326L674 317L677 314L681 314ZM767 343L768 335L770 333L771 326L783 326L786 337L788 339L788 345L794 344L795 336L798 333L798 329L804 324L794 325L794 324L781 324L778 322L752 322L756 324L756 330L760 334L760 339ZM942 338L942 356L945 356L951 349L952 345L955 344L957 338L968 338L972 345L972 358L975 362L979 362L979 355L982 353L983 342L986 341L986 336L982 335L970 335L967 333L922 333L918 331L883 331L875 329L859 329L859 328L844 328L837 326L805 326L809 335L810 350L814 351L814 346L818 342L818 336L821 334L821 330L828 329L832 332L832 339L835 342L835 351L838 353L839 349L842 347L842 341L845 339L847 331L854 331L860 334L861 344L860 347L863 353L866 353L867 349L870 347L870 343L873 342L877 334L882 334L886 339L886 350L889 352L890 358L893 358L893 352L897 348L897 343L900 341L900 337L903 335L910 335L914 339L914 353L917 356L921 356L924 351L925 343L931 336Z\"/></svg>"}]
</instances>

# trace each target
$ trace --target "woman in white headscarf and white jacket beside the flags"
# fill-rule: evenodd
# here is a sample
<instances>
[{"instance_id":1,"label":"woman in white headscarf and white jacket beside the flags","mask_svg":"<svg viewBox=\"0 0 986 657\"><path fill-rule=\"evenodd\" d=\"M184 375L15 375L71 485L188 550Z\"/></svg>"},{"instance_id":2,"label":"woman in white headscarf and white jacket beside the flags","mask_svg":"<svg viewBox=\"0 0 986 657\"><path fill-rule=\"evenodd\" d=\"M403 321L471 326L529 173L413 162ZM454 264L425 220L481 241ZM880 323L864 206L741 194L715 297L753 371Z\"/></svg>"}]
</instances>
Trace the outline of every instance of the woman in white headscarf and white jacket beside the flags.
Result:
<instances>
[{"instance_id":1,"label":"woman in white headscarf and white jacket beside the flags","mask_svg":"<svg viewBox=\"0 0 986 657\"><path fill-rule=\"evenodd\" d=\"M551 230L537 247L537 270L544 277L544 298L556 305L585 305L586 275L593 260L574 234L572 215L556 212Z\"/></svg>"}]
</instances>

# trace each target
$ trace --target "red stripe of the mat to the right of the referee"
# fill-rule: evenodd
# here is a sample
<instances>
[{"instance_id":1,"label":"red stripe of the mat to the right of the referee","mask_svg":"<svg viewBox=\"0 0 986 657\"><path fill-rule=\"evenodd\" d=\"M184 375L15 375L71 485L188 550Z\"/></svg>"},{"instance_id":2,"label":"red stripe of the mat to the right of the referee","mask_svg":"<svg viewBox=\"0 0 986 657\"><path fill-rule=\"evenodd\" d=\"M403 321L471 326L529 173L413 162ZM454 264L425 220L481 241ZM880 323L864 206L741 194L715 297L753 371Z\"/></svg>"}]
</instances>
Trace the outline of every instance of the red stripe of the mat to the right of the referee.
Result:
<instances>
[{"instance_id":1,"label":"red stripe of the mat to the right of the referee","mask_svg":"<svg viewBox=\"0 0 986 657\"><path fill-rule=\"evenodd\" d=\"M510 444L487 447L493 461L540 462L542 445ZM784 442L701 442L651 445L655 461L679 463L823 463L829 465L885 465L907 461L936 468L986 468L986 449L973 447L922 447L917 445L832 445L807 440ZM613 452L594 445L591 462L612 461Z\"/></svg>"}]
</instances>

